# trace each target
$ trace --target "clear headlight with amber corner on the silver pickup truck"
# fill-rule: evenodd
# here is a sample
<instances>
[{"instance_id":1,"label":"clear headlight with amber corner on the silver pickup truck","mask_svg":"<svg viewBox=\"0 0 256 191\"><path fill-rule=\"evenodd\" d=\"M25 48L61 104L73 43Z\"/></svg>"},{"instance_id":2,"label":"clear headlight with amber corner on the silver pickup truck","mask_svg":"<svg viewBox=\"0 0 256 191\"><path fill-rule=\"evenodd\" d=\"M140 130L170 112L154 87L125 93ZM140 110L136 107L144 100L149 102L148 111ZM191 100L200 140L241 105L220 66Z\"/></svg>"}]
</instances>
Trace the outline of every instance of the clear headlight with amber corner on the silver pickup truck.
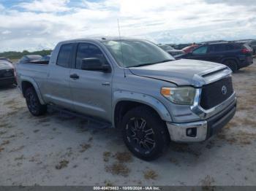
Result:
<instances>
[{"instance_id":1,"label":"clear headlight with amber corner on the silver pickup truck","mask_svg":"<svg viewBox=\"0 0 256 191\"><path fill-rule=\"evenodd\" d=\"M161 94L174 104L192 105L195 98L194 87L162 87Z\"/></svg>"}]
</instances>

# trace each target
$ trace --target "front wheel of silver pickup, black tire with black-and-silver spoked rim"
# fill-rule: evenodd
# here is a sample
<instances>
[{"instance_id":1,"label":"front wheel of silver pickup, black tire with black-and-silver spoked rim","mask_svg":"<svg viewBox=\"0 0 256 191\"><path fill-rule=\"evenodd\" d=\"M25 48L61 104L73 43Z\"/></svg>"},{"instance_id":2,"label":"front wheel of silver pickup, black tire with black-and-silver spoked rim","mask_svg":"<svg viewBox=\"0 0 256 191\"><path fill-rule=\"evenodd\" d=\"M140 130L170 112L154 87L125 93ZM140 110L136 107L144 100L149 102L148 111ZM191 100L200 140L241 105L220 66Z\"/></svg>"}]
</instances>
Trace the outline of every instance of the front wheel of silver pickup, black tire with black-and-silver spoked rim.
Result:
<instances>
[{"instance_id":1,"label":"front wheel of silver pickup, black tire with black-and-silver spoked rim","mask_svg":"<svg viewBox=\"0 0 256 191\"><path fill-rule=\"evenodd\" d=\"M121 123L124 143L142 160L155 160L170 143L165 122L148 106L138 106L124 115Z\"/></svg>"}]
</instances>

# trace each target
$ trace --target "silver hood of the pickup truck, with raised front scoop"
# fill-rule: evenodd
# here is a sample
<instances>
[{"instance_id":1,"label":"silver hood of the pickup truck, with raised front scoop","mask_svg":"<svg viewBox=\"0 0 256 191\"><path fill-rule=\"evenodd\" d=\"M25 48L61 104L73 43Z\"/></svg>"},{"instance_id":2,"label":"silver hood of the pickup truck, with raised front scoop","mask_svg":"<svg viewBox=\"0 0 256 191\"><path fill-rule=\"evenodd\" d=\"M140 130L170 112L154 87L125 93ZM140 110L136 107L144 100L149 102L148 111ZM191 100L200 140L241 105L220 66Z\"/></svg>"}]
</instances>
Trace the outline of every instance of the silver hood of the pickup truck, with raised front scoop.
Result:
<instances>
[{"instance_id":1,"label":"silver hood of the pickup truck, with raised front scoop","mask_svg":"<svg viewBox=\"0 0 256 191\"><path fill-rule=\"evenodd\" d=\"M207 61L181 59L165 63L157 63L149 66L129 68L132 74L140 77L160 79L172 82L176 85L192 85L201 87L215 77L230 74L227 66ZM221 71L225 72L221 72Z\"/></svg>"}]
</instances>

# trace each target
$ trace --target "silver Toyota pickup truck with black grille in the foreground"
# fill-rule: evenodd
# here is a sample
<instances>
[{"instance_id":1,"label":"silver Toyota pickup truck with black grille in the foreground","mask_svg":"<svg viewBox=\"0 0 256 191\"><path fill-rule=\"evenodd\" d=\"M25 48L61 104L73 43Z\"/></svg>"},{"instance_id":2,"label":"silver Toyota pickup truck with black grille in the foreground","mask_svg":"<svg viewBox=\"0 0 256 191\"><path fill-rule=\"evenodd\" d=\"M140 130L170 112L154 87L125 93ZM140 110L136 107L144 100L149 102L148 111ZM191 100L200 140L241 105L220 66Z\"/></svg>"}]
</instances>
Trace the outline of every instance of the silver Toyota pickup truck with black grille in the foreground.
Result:
<instances>
[{"instance_id":1,"label":"silver Toyota pickup truck with black grille in the foreground","mask_svg":"<svg viewBox=\"0 0 256 191\"><path fill-rule=\"evenodd\" d=\"M159 157L170 141L205 141L236 112L227 66L176 61L146 40L60 42L49 63L18 63L16 71L31 114L56 106L106 122L143 160Z\"/></svg>"}]
</instances>

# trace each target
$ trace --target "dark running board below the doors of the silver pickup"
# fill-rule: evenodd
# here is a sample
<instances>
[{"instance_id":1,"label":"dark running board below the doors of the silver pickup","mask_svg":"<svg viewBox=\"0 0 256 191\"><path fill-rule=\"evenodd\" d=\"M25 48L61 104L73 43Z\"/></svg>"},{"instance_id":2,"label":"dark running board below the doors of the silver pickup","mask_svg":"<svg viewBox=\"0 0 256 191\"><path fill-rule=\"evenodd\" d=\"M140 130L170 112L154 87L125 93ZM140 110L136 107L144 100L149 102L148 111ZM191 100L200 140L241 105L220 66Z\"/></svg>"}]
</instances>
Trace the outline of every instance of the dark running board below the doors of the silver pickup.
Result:
<instances>
[{"instance_id":1,"label":"dark running board below the doors of the silver pickup","mask_svg":"<svg viewBox=\"0 0 256 191\"><path fill-rule=\"evenodd\" d=\"M113 126L111 125L110 122L106 122L104 120L98 119L96 117L91 117L91 116L88 116L88 115L85 115L85 114L79 114L78 112L72 112L72 111L69 111L67 109L63 109L59 106L56 106L56 105L50 104L50 105L48 105L48 109L53 109L55 111L58 111L58 112L60 112L60 114L68 114L70 116L79 117L79 118L82 118L84 120L88 120L89 122L95 122L95 123L99 124L99 125L97 125L97 128L99 128L99 129L113 128Z\"/></svg>"}]
</instances>

